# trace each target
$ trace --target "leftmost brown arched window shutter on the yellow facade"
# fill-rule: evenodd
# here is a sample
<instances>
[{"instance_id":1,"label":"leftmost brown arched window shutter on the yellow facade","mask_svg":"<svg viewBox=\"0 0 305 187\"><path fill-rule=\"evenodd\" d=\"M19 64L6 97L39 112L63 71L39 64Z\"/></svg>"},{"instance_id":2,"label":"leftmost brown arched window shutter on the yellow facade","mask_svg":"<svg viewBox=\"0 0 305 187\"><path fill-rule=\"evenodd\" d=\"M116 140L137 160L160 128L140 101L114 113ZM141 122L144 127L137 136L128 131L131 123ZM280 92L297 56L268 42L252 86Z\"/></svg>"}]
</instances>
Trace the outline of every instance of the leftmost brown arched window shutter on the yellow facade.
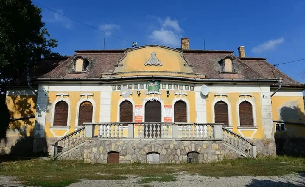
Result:
<instances>
[{"instance_id":1,"label":"leftmost brown arched window shutter on the yellow facade","mask_svg":"<svg viewBox=\"0 0 305 187\"><path fill-rule=\"evenodd\" d=\"M59 101L55 106L54 126L67 126L68 104L65 101Z\"/></svg>"}]
</instances>

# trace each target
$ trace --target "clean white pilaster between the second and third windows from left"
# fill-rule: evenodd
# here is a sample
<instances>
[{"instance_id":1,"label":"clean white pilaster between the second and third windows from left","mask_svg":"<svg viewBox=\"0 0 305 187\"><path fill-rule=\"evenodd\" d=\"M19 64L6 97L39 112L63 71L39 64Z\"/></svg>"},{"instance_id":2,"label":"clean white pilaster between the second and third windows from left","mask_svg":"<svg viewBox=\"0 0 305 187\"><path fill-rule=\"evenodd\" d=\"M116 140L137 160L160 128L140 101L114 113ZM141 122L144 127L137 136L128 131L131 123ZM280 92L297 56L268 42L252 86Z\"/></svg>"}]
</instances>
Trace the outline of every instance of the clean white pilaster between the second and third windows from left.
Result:
<instances>
[{"instance_id":1,"label":"clean white pilaster between the second and third windows from left","mask_svg":"<svg viewBox=\"0 0 305 187\"><path fill-rule=\"evenodd\" d=\"M111 85L101 85L99 122L110 122Z\"/></svg>"}]
</instances>

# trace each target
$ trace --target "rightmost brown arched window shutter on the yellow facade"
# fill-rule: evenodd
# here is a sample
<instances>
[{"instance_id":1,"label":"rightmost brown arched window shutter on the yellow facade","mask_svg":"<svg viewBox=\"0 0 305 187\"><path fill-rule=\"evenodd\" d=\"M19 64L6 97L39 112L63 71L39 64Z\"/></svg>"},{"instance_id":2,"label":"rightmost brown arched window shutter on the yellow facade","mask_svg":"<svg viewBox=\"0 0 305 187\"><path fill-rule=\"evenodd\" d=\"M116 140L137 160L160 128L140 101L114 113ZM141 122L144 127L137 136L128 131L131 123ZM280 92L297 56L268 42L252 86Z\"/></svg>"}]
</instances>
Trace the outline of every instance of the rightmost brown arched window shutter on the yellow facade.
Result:
<instances>
[{"instance_id":1,"label":"rightmost brown arched window shutter on the yellow facade","mask_svg":"<svg viewBox=\"0 0 305 187\"><path fill-rule=\"evenodd\" d=\"M252 105L249 102L242 102L239 105L240 127L253 127Z\"/></svg>"}]
</instances>

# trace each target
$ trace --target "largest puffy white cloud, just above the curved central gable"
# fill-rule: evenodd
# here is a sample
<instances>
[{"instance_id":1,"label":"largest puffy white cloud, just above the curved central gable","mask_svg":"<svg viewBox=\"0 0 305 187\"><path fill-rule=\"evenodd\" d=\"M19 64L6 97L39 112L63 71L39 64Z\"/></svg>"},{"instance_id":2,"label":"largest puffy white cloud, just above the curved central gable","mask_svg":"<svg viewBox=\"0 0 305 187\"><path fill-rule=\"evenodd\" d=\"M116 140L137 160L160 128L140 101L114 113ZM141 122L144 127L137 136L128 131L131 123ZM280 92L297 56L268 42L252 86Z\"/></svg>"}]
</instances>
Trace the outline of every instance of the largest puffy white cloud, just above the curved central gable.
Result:
<instances>
[{"instance_id":1,"label":"largest puffy white cloud, just above the curved central gable","mask_svg":"<svg viewBox=\"0 0 305 187\"><path fill-rule=\"evenodd\" d=\"M149 38L162 45L179 46L183 29L179 26L178 20L171 20L170 17L166 17L165 20L159 19L159 22L161 28L152 31Z\"/></svg>"}]
</instances>

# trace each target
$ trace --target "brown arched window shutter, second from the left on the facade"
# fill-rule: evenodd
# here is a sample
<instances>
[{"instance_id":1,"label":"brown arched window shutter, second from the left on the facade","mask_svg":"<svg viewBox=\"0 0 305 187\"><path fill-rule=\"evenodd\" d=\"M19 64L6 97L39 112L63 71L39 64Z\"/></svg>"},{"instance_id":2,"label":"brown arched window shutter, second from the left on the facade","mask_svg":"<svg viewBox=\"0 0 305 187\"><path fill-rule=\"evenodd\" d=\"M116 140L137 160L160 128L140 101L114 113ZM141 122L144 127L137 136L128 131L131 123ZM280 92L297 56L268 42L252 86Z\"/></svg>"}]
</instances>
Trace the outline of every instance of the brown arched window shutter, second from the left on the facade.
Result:
<instances>
[{"instance_id":1,"label":"brown arched window shutter, second from the left on the facade","mask_svg":"<svg viewBox=\"0 0 305 187\"><path fill-rule=\"evenodd\" d=\"M84 126L84 122L92 122L93 106L89 101L82 102L79 106L78 126Z\"/></svg>"}]
</instances>

